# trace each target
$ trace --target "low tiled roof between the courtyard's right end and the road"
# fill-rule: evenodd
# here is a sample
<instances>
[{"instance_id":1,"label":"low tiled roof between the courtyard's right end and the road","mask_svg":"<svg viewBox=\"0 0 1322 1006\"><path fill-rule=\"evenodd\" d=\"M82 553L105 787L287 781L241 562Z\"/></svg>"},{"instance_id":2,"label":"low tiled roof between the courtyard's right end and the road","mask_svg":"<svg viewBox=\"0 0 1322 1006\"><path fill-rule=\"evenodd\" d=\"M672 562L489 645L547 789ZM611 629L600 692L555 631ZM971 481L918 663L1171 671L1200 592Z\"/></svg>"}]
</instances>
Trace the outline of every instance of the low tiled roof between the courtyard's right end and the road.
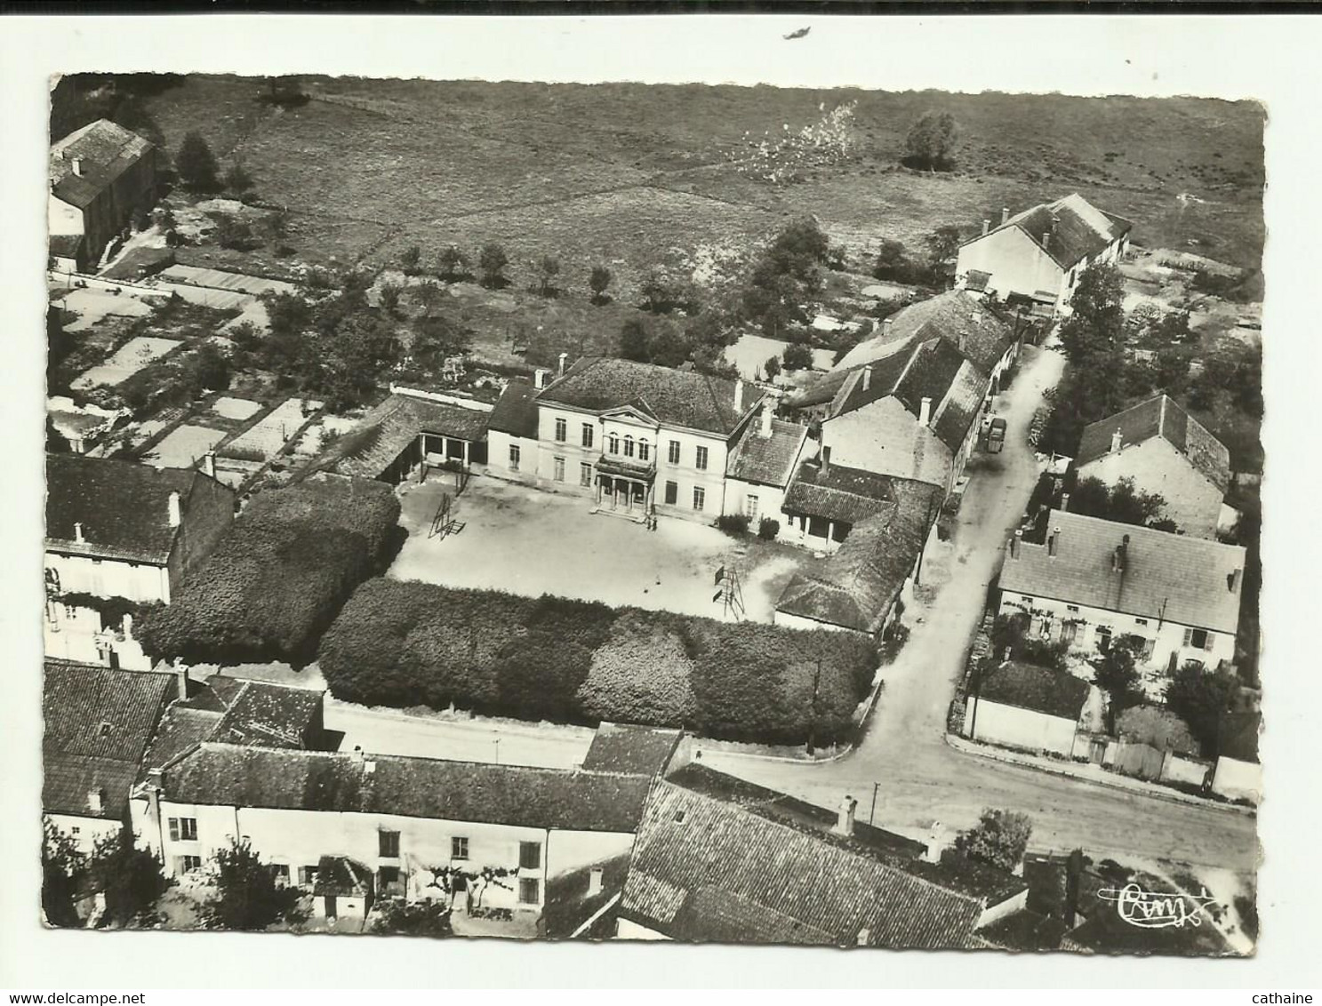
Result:
<instances>
[{"instance_id":1,"label":"low tiled roof between the courtyard's right end and the road","mask_svg":"<svg viewBox=\"0 0 1322 1006\"><path fill-rule=\"evenodd\" d=\"M818 572L796 572L777 612L858 632L882 627L923 551L941 492L907 479L892 485L895 502L854 525Z\"/></svg>"}]
</instances>

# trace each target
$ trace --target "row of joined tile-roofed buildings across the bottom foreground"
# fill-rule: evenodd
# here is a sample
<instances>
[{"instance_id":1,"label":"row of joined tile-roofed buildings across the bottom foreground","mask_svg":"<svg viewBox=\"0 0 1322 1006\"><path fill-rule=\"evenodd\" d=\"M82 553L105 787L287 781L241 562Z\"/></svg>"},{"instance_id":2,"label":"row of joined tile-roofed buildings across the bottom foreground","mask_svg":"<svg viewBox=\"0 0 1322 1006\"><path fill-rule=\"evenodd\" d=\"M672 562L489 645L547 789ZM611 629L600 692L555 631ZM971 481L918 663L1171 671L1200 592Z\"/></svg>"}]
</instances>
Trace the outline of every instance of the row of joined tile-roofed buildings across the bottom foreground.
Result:
<instances>
[{"instance_id":1,"label":"row of joined tile-roofed buildings across the bottom foreground","mask_svg":"<svg viewBox=\"0 0 1322 1006\"><path fill-rule=\"evenodd\" d=\"M87 847L128 828L168 874L242 833L321 911L333 865L366 913L442 898L438 869L510 857L510 911L551 937L608 906L621 937L976 947L1026 900L939 828L915 841L858 820L851 796L829 810L744 783L677 730L603 723L576 768L337 751L320 691L65 661L46 664L44 714L53 826Z\"/></svg>"}]
</instances>

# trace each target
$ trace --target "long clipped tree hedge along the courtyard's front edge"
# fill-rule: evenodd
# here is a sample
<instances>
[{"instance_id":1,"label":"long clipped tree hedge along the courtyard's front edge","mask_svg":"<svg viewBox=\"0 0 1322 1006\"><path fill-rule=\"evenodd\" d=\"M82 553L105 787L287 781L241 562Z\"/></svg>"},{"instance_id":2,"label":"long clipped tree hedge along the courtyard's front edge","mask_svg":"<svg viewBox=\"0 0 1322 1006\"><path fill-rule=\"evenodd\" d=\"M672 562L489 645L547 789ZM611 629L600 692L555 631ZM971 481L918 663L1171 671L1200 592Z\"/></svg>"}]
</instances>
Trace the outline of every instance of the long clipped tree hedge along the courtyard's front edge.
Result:
<instances>
[{"instance_id":1,"label":"long clipped tree hedge along the courtyard's front edge","mask_svg":"<svg viewBox=\"0 0 1322 1006\"><path fill-rule=\"evenodd\" d=\"M319 661L350 702L769 744L847 739L878 665L869 640L839 632L391 579L358 588Z\"/></svg>"}]
</instances>

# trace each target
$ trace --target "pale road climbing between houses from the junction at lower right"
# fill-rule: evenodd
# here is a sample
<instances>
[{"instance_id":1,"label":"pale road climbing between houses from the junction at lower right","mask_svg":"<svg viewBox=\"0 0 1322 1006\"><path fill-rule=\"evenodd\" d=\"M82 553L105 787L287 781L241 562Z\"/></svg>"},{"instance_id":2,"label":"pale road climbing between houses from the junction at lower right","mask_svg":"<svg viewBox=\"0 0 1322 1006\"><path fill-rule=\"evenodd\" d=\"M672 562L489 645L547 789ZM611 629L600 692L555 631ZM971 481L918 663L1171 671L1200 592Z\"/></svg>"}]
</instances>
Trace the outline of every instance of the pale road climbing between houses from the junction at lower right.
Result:
<instances>
[{"instance_id":1,"label":"pale road climbing between houses from the junction at lower right","mask_svg":"<svg viewBox=\"0 0 1322 1006\"><path fill-rule=\"evenodd\" d=\"M949 579L886 673L886 690L862 744L830 763L773 761L723 751L705 751L703 760L822 806L837 806L842 796L853 794L861 814L871 812L878 783L876 824L911 834L925 833L935 820L965 828L984 806L1001 806L1032 817L1035 849L1081 845L1101 854L1251 870L1257 850L1251 817L990 761L945 743L947 707L988 584L1038 479L1026 440L1029 422L1060 368L1059 353L1038 350L1006 393L998 410L1009 426L1006 448L985 457L984 467L972 473L953 554L947 557Z\"/></svg>"}]
</instances>

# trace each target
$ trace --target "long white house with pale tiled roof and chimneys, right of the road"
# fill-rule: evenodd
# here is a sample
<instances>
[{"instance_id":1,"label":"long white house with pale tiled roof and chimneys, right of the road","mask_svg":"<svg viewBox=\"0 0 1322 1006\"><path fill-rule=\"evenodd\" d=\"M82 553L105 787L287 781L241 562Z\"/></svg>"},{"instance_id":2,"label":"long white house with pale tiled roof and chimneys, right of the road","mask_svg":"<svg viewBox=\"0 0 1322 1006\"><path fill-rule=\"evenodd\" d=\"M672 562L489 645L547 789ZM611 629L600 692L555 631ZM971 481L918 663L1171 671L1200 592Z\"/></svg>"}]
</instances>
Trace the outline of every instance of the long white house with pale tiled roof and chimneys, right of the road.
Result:
<instances>
[{"instance_id":1,"label":"long white house with pale tiled roof and chimneys, right of the road","mask_svg":"<svg viewBox=\"0 0 1322 1006\"><path fill-rule=\"evenodd\" d=\"M1010 539L999 611L1073 650L1128 638L1141 666L1211 669L1235 658L1243 579L1237 545L1051 510L1044 542Z\"/></svg>"}]
</instances>

